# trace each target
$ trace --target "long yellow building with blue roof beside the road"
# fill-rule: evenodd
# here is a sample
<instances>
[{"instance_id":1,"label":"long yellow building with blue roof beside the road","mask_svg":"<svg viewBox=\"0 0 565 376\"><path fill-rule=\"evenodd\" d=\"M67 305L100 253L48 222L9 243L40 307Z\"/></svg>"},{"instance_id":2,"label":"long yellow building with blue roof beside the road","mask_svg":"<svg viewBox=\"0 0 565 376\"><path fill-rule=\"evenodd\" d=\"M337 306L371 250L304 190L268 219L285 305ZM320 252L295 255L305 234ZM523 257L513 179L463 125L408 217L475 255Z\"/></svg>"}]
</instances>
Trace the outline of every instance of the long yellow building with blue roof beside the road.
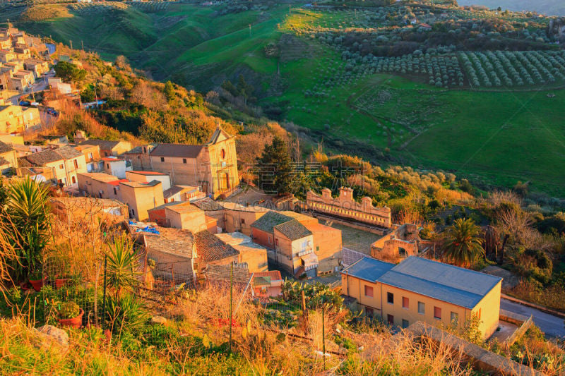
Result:
<instances>
[{"instance_id":1,"label":"long yellow building with blue roof beside the road","mask_svg":"<svg viewBox=\"0 0 565 376\"><path fill-rule=\"evenodd\" d=\"M484 338L499 326L499 277L415 256L398 265L364 257L341 274L355 308L390 325L423 321L462 329L475 315Z\"/></svg>"}]
</instances>

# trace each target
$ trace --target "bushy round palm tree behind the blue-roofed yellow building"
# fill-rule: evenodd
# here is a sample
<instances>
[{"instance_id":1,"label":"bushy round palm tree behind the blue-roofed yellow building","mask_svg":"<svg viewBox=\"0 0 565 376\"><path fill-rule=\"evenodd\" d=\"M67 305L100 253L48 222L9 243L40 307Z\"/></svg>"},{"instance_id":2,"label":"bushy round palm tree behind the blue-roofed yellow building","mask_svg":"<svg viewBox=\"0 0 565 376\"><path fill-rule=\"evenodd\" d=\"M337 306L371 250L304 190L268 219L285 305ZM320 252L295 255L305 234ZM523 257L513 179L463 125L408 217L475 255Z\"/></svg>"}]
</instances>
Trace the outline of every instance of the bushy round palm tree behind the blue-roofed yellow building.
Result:
<instances>
[{"instance_id":1,"label":"bushy round palm tree behind the blue-roofed yellow building","mask_svg":"<svg viewBox=\"0 0 565 376\"><path fill-rule=\"evenodd\" d=\"M484 255L480 227L472 219L456 219L446 230L441 248L444 257L456 265L468 267Z\"/></svg>"}]
</instances>

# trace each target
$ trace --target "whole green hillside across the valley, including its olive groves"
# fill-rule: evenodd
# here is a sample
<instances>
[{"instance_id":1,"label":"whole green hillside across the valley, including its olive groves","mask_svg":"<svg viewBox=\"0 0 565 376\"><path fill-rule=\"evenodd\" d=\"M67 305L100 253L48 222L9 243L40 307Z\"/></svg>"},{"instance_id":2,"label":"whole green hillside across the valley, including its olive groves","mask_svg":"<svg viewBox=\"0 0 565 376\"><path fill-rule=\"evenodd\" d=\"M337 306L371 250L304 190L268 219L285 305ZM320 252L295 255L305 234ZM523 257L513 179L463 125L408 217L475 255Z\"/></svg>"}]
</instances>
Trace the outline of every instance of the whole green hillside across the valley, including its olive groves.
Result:
<instances>
[{"instance_id":1,"label":"whole green hillside across the valley, including its olive groves","mask_svg":"<svg viewBox=\"0 0 565 376\"><path fill-rule=\"evenodd\" d=\"M59 13L32 21L24 13L17 25L75 47L82 40L107 59L124 54L153 78L201 92L244 75L258 104L332 150L496 185L530 181L535 190L565 195L557 172L565 157L565 55L548 43L546 20L456 8L440 17L429 6L402 5L291 6L291 16L276 4L237 12L190 4L51 7ZM410 17L440 26L429 38L418 25L398 27ZM473 42L477 26L489 40ZM266 56L269 43L278 54Z\"/></svg>"}]
</instances>

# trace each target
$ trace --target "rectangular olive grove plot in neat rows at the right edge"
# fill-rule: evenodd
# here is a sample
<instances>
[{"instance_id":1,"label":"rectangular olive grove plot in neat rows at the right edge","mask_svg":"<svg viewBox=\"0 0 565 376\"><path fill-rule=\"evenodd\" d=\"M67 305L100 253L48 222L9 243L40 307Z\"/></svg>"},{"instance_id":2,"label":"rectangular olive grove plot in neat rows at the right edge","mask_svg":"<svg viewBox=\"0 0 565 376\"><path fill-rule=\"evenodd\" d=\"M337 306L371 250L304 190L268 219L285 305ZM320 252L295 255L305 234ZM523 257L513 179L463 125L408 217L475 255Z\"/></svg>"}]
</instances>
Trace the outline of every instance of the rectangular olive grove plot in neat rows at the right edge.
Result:
<instances>
[{"instance_id":1,"label":"rectangular olive grove plot in neat rows at the right edge","mask_svg":"<svg viewBox=\"0 0 565 376\"><path fill-rule=\"evenodd\" d=\"M470 85L543 85L565 80L565 51L460 52Z\"/></svg>"}]
</instances>

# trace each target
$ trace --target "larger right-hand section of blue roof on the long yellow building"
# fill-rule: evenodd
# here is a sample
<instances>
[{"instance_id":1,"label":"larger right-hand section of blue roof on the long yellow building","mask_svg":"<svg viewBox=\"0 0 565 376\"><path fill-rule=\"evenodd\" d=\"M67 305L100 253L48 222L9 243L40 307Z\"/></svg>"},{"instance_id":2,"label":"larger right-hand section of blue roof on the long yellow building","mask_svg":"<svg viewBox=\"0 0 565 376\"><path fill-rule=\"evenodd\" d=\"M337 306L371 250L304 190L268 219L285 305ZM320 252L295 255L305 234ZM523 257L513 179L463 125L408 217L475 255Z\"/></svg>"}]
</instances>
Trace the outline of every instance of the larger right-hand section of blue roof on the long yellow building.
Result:
<instances>
[{"instance_id":1,"label":"larger right-hand section of blue roof on the long yellow building","mask_svg":"<svg viewBox=\"0 0 565 376\"><path fill-rule=\"evenodd\" d=\"M472 309L500 277L411 256L381 275L379 282Z\"/></svg>"}]
</instances>

